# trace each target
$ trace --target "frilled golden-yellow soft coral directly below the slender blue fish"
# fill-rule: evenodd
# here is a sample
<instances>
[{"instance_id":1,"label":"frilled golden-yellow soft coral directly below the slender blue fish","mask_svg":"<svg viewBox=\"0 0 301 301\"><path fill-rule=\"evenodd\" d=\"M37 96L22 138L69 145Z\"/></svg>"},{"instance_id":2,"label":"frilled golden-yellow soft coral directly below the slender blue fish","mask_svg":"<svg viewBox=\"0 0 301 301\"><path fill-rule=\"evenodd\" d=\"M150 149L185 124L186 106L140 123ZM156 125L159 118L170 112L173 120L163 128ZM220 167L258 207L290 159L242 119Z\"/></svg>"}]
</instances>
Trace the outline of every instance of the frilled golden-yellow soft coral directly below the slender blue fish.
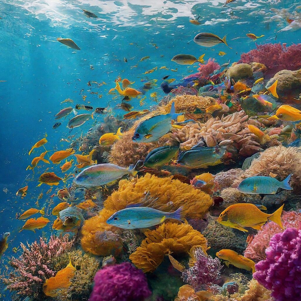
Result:
<instances>
[{"instance_id":1,"label":"frilled golden-yellow soft coral directly below the slender blue fish","mask_svg":"<svg viewBox=\"0 0 301 301\"><path fill-rule=\"evenodd\" d=\"M167 222L144 234L146 238L141 246L129 257L144 272L153 272L169 252L188 253L194 246L201 247L204 252L207 250L206 238L189 224Z\"/></svg>"}]
</instances>

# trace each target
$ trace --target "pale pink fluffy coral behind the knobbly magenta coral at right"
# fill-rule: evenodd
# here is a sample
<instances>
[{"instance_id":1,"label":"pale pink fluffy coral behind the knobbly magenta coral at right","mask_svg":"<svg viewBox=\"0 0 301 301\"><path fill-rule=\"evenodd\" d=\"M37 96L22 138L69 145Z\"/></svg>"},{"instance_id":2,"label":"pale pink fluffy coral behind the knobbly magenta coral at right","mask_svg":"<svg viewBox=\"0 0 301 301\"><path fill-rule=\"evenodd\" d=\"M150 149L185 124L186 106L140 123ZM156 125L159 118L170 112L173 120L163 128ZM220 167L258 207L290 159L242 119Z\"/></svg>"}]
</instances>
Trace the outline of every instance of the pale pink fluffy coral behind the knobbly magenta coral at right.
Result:
<instances>
[{"instance_id":1,"label":"pale pink fluffy coral behind the knobbly magenta coral at right","mask_svg":"<svg viewBox=\"0 0 301 301\"><path fill-rule=\"evenodd\" d=\"M270 239L276 233L282 233L286 228L299 228L301 226L301 213L296 211L284 212L281 229L275 222L267 222L248 244L244 256L254 261L265 259L265 249L268 247Z\"/></svg>"}]
</instances>

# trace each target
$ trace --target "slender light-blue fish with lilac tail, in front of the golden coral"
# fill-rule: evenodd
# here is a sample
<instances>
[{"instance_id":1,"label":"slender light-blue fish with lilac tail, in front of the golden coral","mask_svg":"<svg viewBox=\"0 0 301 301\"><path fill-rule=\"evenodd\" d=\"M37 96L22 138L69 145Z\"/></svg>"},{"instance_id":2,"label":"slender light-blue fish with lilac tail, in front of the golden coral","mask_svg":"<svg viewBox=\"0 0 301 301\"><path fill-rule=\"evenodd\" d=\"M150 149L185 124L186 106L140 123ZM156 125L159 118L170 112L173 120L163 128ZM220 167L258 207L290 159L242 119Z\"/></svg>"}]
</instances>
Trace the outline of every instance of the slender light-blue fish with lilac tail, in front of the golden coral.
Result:
<instances>
[{"instance_id":1,"label":"slender light-blue fish with lilac tail, in front of the golden coral","mask_svg":"<svg viewBox=\"0 0 301 301\"><path fill-rule=\"evenodd\" d=\"M138 229L158 225L166 219L182 222L182 210L183 207L179 207L175 212L163 212L149 207L126 208L110 216L107 224L123 229Z\"/></svg>"}]
</instances>

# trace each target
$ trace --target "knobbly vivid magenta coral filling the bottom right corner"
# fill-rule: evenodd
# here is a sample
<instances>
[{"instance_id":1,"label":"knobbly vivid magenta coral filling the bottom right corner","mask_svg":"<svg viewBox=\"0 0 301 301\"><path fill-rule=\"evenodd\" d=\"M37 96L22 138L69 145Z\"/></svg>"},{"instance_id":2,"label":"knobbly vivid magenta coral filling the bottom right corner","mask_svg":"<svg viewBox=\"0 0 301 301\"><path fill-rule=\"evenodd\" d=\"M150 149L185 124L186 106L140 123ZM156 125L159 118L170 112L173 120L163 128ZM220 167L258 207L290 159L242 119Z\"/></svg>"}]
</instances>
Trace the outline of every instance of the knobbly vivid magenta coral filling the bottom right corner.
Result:
<instances>
[{"instance_id":1,"label":"knobbly vivid magenta coral filling the bottom right corner","mask_svg":"<svg viewBox=\"0 0 301 301\"><path fill-rule=\"evenodd\" d=\"M301 296L301 230L287 228L275 234L266 259L255 265L253 277L272 290L275 301L299 301Z\"/></svg>"}]
</instances>

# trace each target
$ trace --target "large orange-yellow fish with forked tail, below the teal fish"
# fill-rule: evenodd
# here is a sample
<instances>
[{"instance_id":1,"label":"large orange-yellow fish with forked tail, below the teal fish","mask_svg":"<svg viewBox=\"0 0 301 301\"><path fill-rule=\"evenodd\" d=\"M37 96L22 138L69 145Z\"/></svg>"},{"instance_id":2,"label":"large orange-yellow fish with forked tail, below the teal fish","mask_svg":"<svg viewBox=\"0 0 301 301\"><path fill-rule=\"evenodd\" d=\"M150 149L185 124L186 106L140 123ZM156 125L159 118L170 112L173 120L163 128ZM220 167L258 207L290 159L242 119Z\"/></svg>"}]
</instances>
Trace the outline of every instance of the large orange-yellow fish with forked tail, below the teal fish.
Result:
<instances>
[{"instance_id":1,"label":"large orange-yellow fish with forked tail, below the teal fish","mask_svg":"<svg viewBox=\"0 0 301 301\"><path fill-rule=\"evenodd\" d=\"M259 210L257 206L249 203L238 203L227 207L220 215L217 221L227 227L248 232L246 228L259 230L268 220L278 224L281 229L282 205L272 214L267 214Z\"/></svg>"}]
</instances>

